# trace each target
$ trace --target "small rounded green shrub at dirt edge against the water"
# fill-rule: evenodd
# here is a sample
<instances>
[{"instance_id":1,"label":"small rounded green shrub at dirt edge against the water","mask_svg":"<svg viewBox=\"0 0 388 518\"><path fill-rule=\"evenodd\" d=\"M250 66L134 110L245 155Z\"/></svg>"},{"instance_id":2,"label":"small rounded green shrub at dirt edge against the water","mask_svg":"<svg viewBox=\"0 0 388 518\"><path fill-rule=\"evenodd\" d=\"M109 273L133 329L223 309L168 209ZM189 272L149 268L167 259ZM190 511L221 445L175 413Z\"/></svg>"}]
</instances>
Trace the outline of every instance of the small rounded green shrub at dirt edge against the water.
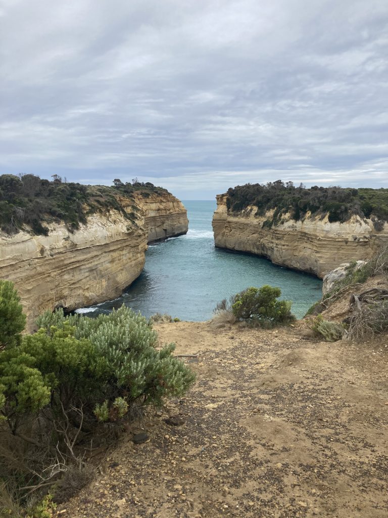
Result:
<instances>
[{"instance_id":1,"label":"small rounded green shrub at dirt edge against the water","mask_svg":"<svg viewBox=\"0 0 388 518\"><path fill-rule=\"evenodd\" d=\"M291 301L277 300L281 291L278 287L249 287L234 295L232 312L236 319L255 320L263 325L291 322Z\"/></svg>"}]
</instances>

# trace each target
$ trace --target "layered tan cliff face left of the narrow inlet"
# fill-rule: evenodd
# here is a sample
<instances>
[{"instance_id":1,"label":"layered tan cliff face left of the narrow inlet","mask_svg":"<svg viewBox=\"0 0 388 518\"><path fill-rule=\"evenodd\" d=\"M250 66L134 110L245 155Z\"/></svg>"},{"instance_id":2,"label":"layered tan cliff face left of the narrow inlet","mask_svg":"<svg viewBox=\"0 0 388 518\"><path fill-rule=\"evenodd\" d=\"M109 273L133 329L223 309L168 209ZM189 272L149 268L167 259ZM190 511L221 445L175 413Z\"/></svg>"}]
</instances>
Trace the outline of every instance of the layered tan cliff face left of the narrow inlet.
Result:
<instances>
[{"instance_id":1,"label":"layered tan cliff face left of the narrow inlet","mask_svg":"<svg viewBox=\"0 0 388 518\"><path fill-rule=\"evenodd\" d=\"M173 195L137 193L136 202L134 221L110 210L89 215L73 233L65 224L49 225L48 236L0 233L0 279L14 282L29 329L44 310L119 296L140 275L147 242L187 232L186 209ZM124 198L121 205L133 209Z\"/></svg>"}]
</instances>

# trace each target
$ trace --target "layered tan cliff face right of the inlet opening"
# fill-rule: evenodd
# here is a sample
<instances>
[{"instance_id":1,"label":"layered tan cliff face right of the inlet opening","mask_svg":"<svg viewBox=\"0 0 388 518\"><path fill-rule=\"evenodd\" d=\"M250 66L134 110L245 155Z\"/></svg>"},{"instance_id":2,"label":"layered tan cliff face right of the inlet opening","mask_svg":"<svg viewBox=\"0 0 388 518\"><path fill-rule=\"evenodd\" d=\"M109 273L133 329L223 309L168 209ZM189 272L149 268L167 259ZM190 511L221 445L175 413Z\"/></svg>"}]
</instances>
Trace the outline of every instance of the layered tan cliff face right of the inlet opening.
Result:
<instances>
[{"instance_id":1,"label":"layered tan cliff face right of the inlet opening","mask_svg":"<svg viewBox=\"0 0 388 518\"><path fill-rule=\"evenodd\" d=\"M256 208L228 214L226 195L217 196L213 217L215 246L251 252L273 263L323 277L341 263L367 260L388 241L388 224L376 232L370 220L353 215L345 223L330 223L327 216L294 221L285 218L263 227L268 214L256 217Z\"/></svg>"}]
</instances>

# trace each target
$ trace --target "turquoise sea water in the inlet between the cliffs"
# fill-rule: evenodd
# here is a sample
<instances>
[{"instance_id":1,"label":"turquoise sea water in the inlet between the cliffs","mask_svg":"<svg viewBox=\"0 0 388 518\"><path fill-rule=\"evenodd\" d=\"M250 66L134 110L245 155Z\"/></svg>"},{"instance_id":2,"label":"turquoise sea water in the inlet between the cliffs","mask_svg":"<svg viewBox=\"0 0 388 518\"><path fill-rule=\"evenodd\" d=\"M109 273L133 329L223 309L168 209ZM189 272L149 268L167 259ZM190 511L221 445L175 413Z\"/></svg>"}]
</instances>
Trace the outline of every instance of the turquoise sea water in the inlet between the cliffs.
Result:
<instances>
[{"instance_id":1,"label":"turquoise sea water in the inlet between the cliffs","mask_svg":"<svg viewBox=\"0 0 388 518\"><path fill-rule=\"evenodd\" d=\"M292 311L301 318L321 297L322 281L248 254L214 247L212 217L215 202L183 202L189 231L185 236L152 244L140 277L118 299L81 309L94 316L123 303L145 316L168 313L181 320L212 318L217 301L248 286L271 284L282 297L293 300Z\"/></svg>"}]
</instances>

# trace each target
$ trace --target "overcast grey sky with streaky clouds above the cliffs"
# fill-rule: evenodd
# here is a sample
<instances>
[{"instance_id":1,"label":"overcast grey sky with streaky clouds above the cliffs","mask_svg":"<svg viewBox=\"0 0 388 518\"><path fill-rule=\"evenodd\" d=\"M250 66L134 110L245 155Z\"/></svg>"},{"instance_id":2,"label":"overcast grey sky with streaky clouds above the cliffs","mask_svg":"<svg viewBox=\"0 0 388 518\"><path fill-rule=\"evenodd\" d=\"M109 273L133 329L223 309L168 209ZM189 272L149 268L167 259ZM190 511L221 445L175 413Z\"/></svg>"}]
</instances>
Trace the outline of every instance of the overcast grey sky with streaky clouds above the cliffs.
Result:
<instances>
[{"instance_id":1,"label":"overcast grey sky with streaky clouds above the cliffs","mask_svg":"<svg viewBox=\"0 0 388 518\"><path fill-rule=\"evenodd\" d=\"M387 0L0 0L0 172L388 187Z\"/></svg>"}]
</instances>

